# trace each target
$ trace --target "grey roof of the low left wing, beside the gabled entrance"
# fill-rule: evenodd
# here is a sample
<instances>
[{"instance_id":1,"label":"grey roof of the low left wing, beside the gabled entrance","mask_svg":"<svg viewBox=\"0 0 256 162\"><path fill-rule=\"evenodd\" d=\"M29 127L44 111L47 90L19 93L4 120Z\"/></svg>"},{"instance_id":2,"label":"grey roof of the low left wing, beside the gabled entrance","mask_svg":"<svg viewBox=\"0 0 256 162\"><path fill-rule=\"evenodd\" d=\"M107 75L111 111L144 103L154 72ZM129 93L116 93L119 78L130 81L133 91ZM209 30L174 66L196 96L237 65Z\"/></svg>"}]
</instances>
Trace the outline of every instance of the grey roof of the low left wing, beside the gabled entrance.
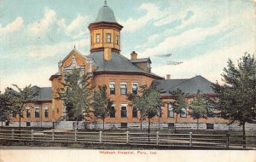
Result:
<instances>
[{"instance_id":1,"label":"grey roof of the low left wing, beside the gabled entrance","mask_svg":"<svg viewBox=\"0 0 256 162\"><path fill-rule=\"evenodd\" d=\"M32 99L32 101L51 101L52 99L51 87L38 87L35 85L35 86L32 86L32 90L34 90L38 94Z\"/></svg>"}]
</instances>

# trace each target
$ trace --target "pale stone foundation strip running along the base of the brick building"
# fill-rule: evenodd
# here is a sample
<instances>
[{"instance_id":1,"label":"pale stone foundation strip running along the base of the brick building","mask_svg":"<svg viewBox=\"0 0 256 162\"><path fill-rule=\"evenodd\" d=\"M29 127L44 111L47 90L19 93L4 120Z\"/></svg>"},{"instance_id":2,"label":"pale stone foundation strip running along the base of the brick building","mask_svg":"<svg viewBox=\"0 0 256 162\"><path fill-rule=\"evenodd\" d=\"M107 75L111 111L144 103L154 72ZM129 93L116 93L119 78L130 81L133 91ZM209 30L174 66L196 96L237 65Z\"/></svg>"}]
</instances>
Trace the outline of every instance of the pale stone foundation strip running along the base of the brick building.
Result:
<instances>
[{"instance_id":1,"label":"pale stone foundation strip running along the base of the brick building","mask_svg":"<svg viewBox=\"0 0 256 162\"><path fill-rule=\"evenodd\" d=\"M52 128L52 122L30 122L30 126L27 126L26 122L21 122L21 127L44 127L44 128ZM2 124L1 124L2 125ZM126 126L127 125L127 126ZM3 122L3 126L6 126L6 123ZM226 124L226 123L215 123L211 125L212 127L207 128L206 123L199 123L198 129L199 130L242 130L241 125L239 124ZM19 122L11 122L9 123L9 127L19 127ZM75 121L61 121L59 124L55 124L56 130L73 130L76 127ZM105 130L117 130L117 129L129 129L129 130L140 130L141 123L105 123L104 125ZM177 130L196 130L197 124L196 123L163 123L163 122L151 122L150 129L152 130L168 130L174 129ZM89 130L102 130L103 122L92 122L85 124L84 121L79 121L79 129ZM143 121L143 130L148 129L148 122ZM246 124L246 130L256 130L256 124Z\"/></svg>"}]
</instances>

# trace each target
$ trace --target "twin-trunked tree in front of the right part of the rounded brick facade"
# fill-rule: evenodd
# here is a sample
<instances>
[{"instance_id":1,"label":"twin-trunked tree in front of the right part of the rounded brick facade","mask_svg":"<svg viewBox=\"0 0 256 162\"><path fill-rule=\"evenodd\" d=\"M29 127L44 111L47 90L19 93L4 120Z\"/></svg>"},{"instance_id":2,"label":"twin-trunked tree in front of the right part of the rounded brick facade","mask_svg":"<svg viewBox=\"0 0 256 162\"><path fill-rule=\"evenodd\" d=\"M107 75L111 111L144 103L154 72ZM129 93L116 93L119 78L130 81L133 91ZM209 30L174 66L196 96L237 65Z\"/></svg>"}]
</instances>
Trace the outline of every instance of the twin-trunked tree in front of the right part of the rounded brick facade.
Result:
<instances>
[{"instance_id":1,"label":"twin-trunked tree in front of the right part of the rounded brick facade","mask_svg":"<svg viewBox=\"0 0 256 162\"><path fill-rule=\"evenodd\" d=\"M131 101L131 107L137 107L141 113L141 129L143 119L148 118L148 135L150 132L150 119L154 118L160 110L162 101L160 99L160 92L155 89L153 85L140 86L139 94L128 94L127 98Z\"/></svg>"}]
</instances>

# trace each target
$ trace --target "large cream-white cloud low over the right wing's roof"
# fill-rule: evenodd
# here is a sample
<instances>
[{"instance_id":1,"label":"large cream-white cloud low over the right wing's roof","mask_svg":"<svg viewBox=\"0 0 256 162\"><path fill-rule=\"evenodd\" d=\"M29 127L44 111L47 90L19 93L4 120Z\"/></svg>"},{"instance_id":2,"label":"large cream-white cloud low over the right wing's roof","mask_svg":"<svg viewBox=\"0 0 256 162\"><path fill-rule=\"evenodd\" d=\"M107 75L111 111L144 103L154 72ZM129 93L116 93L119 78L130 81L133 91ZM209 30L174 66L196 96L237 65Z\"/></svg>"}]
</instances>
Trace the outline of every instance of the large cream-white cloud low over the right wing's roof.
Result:
<instances>
[{"instance_id":1,"label":"large cream-white cloud low over the right wing's roof","mask_svg":"<svg viewBox=\"0 0 256 162\"><path fill-rule=\"evenodd\" d=\"M201 75L212 82L216 80L221 82L221 73L223 73L224 67L227 66L228 59L236 63L245 52L253 54L255 52L255 44L248 41L238 46L218 49L183 61L183 64L177 66L162 65L155 67L153 72L163 77L166 74L171 74L172 78L192 78L195 75Z\"/></svg>"}]
</instances>

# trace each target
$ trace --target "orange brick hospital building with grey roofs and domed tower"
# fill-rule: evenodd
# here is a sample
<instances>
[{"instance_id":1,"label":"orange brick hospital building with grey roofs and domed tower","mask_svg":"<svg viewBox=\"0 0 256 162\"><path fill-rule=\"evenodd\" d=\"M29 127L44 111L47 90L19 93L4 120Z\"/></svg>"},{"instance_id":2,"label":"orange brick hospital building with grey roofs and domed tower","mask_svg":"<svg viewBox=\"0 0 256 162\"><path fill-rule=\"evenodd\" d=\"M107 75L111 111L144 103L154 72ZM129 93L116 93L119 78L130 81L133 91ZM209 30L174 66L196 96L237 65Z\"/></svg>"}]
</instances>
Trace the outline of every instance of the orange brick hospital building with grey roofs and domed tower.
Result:
<instances>
[{"instance_id":1,"label":"orange brick hospital building with grey roofs and domed tower","mask_svg":"<svg viewBox=\"0 0 256 162\"><path fill-rule=\"evenodd\" d=\"M21 121L23 126L51 126L54 121L61 121L67 116L66 107L62 101L55 100L55 93L61 87L63 82L63 73L71 71L73 67L80 68L91 76L92 86L106 84L108 94L114 101L113 108L115 113L111 114L106 127L109 128L113 124L116 126L132 126L138 127L140 124L137 109L128 106L126 94L129 92L137 92L139 85L154 84L161 92L163 101L172 101L172 95L168 93L172 90L182 90L190 100L193 95L200 90L205 95L215 95L211 88L211 82L201 76L195 76L188 79L172 79L170 75L165 78L151 72L151 61L149 58L139 58L139 54L135 51L131 52L131 58L128 59L121 54L120 37L121 26L115 19L113 10L107 3L99 10L96 20L88 26L90 30L90 54L83 55L77 49L73 49L62 61L58 62L59 70L50 76L51 87L39 88L37 101L34 101L34 108L27 108ZM176 114L170 104L162 107L160 118L152 119L153 127L171 128L174 126ZM13 121L18 121L18 117L14 117ZM47 123L49 122L49 123ZM97 127L101 124L101 120L91 121L90 128ZM188 115L188 108L184 107L177 117L176 126L189 126L196 128L195 120ZM208 119L200 119L201 129L224 129L227 128L227 120L217 117L209 117ZM25 125L26 124L26 125ZM66 123L68 124L68 123ZM68 127L67 125L63 125ZM147 122L143 124L147 127ZM234 128L236 128L234 126Z\"/></svg>"}]
</instances>

